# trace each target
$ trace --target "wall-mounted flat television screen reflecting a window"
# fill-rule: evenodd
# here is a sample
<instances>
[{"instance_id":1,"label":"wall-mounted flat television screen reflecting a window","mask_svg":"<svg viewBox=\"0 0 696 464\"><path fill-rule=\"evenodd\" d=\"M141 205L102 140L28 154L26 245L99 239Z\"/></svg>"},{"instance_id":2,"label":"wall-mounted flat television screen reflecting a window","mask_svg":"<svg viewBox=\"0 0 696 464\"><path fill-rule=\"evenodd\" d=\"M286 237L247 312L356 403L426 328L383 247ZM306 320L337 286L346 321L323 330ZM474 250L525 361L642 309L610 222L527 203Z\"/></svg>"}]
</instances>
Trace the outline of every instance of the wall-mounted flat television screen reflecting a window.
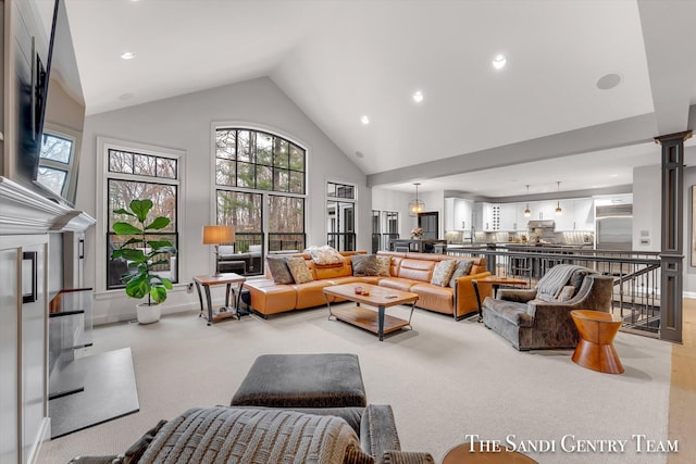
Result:
<instances>
[{"instance_id":1,"label":"wall-mounted flat television screen reflecting a window","mask_svg":"<svg viewBox=\"0 0 696 464\"><path fill-rule=\"evenodd\" d=\"M53 7L52 20L44 22L49 37L44 74L39 55L36 55L33 109L36 146L33 156L28 158L33 158L32 180L36 188L45 196L72 206L77 191L85 100L65 1L55 0Z\"/></svg>"}]
</instances>

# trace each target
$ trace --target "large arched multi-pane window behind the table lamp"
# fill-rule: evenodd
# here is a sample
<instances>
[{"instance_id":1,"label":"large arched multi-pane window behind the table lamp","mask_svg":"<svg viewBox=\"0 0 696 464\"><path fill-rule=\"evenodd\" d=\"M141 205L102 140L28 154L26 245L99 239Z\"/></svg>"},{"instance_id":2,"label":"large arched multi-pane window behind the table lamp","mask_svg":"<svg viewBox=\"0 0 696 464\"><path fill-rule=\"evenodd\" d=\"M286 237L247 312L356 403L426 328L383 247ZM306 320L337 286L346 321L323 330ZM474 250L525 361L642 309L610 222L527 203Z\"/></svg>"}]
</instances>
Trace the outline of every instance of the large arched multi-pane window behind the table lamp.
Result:
<instances>
[{"instance_id":1,"label":"large arched multi-pane window behind the table lamp","mask_svg":"<svg viewBox=\"0 0 696 464\"><path fill-rule=\"evenodd\" d=\"M283 137L215 130L216 218L235 226L237 253L304 249L306 166L306 150Z\"/></svg>"}]
</instances>

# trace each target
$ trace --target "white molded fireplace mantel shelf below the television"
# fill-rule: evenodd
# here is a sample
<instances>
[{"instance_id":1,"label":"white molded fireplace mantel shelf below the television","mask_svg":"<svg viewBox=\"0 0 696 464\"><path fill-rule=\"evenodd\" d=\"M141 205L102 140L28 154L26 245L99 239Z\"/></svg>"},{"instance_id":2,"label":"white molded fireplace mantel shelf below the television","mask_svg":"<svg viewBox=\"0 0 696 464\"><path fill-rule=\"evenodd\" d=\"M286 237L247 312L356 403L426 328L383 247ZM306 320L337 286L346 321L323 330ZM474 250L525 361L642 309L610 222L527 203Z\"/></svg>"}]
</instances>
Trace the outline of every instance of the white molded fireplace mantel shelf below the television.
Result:
<instances>
[{"instance_id":1,"label":"white molded fireplace mantel shelf below the television","mask_svg":"<svg viewBox=\"0 0 696 464\"><path fill-rule=\"evenodd\" d=\"M97 221L0 176L0 235L85 231Z\"/></svg>"}]
</instances>

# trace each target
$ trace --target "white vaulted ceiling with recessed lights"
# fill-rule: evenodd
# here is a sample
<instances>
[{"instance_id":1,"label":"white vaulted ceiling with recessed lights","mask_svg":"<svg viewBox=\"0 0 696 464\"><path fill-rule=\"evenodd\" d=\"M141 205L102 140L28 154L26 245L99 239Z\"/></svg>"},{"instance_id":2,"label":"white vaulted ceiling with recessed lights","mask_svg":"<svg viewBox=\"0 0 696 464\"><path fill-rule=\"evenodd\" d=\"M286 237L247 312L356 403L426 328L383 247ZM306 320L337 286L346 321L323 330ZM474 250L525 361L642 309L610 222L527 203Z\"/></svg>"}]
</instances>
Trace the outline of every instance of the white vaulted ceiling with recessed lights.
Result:
<instances>
[{"instance_id":1,"label":"white vaulted ceiling with recessed lights","mask_svg":"<svg viewBox=\"0 0 696 464\"><path fill-rule=\"evenodd\" d=\"M652 137L693 127L692 1L66 5L89 114L269 76L371 186L505 197L625 185L633 166L659 164ZM608 74L619 85L598 88Z\"/></svg>"}]
</instances>

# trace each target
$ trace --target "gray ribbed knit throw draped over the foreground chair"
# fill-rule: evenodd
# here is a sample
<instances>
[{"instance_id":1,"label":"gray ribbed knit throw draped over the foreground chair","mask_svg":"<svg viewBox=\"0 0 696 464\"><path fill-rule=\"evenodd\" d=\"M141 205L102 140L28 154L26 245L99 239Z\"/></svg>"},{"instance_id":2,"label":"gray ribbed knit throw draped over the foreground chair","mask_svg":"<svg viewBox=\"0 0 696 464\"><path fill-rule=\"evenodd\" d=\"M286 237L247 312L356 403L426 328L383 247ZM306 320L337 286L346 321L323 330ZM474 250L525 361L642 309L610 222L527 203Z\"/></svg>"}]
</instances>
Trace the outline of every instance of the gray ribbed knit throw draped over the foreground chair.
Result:
<instances>
[{"instance_id":1,"label":"gray ribbed knit throw draped over the foreground chair","mask_svg":"<svg viewBox=\"0 0 696 464\"><path fill-rule=\"evenodd\" d=\"M343 463L352 448L356 432L335 416L196 407L166 423L140 463Z\"/></svg>"}]
</instances>

